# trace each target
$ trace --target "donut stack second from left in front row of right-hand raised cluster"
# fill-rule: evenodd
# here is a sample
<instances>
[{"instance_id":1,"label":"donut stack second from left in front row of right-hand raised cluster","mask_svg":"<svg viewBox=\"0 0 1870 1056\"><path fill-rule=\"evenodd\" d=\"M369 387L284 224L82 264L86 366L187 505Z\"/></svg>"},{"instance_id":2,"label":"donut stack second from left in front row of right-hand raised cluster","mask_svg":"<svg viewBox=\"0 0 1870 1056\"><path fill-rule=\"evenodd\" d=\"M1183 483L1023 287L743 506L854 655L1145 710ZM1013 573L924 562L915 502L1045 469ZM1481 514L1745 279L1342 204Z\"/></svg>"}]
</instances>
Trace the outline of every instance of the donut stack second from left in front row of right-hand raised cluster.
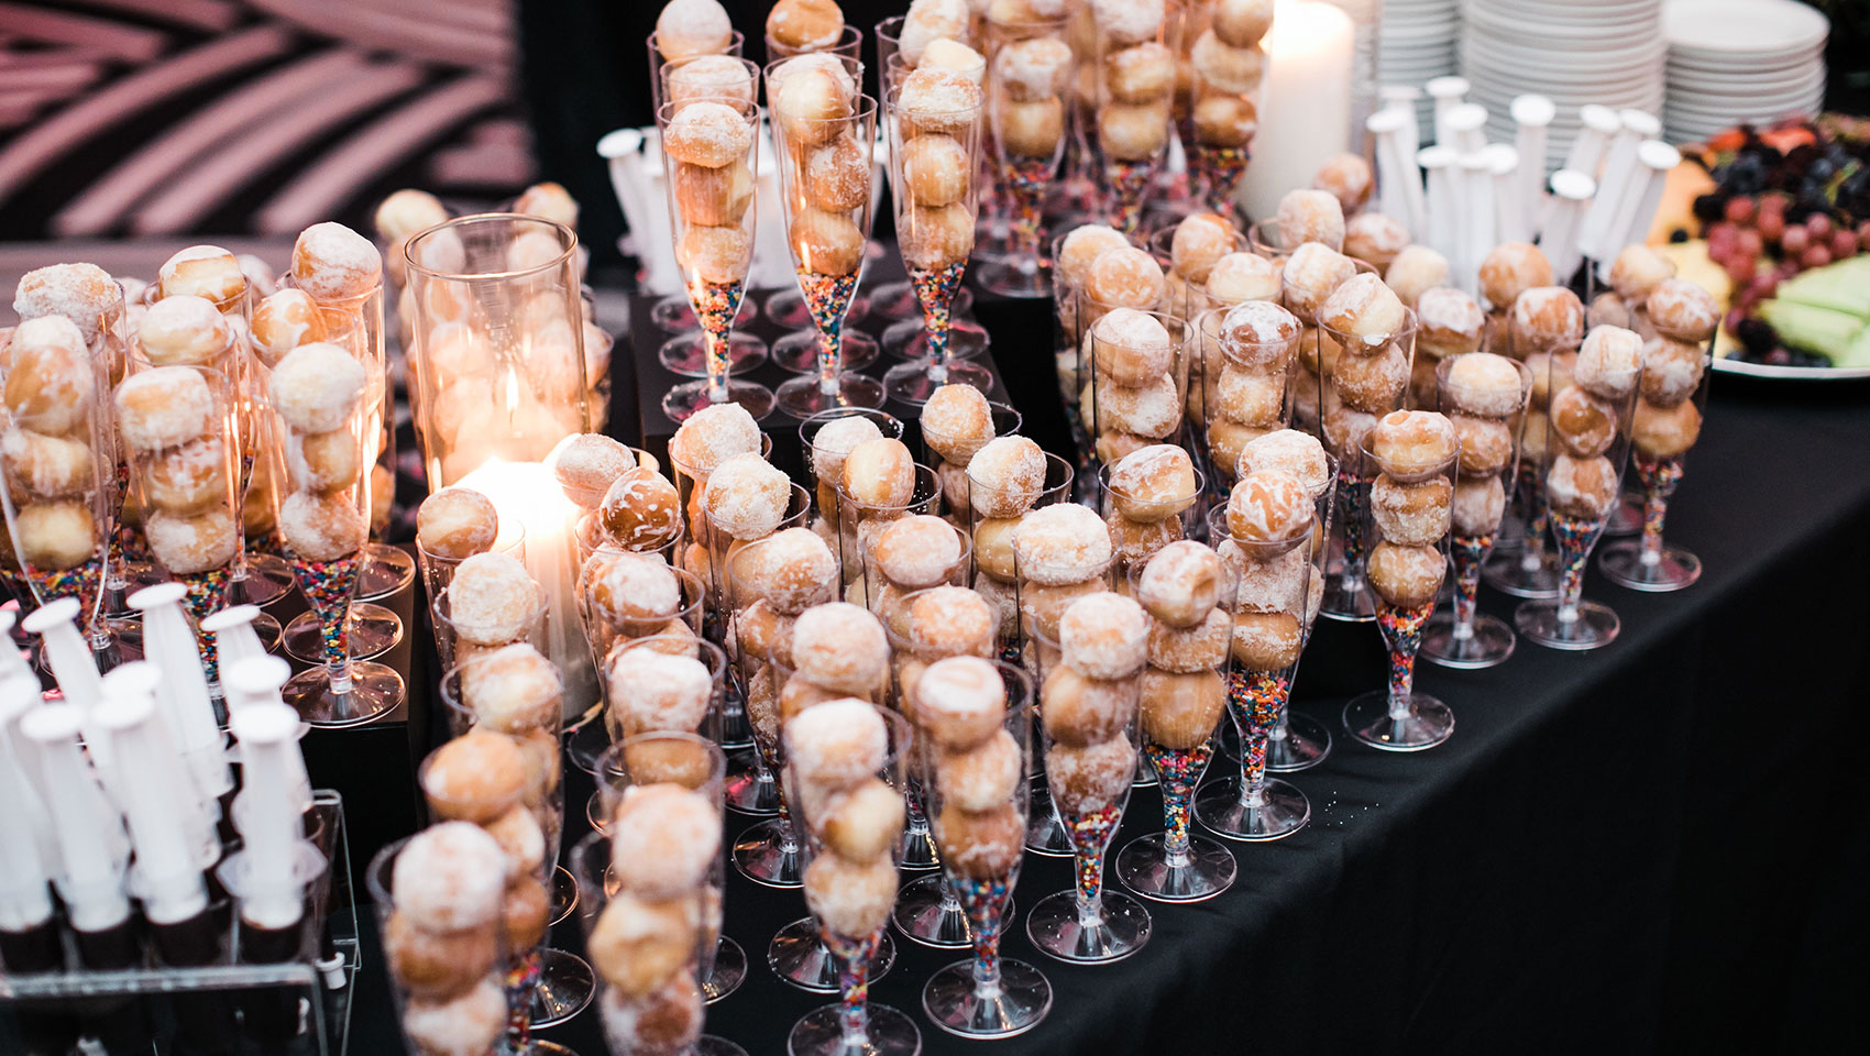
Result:
<instances>
[{"instance_id":1,"label":"donut stack second from left in front row of right-hand raised cluster","mask_svg":"<svg viewBox=\"0 0 1870 1056\"><path fill-rule=\"evenodd\" d=\"M1219 316L1221 363L1210 374L1204 434L1223 478L1232 478L1247 443L1285 422L1302 329L1298 316L1272 301L1242 301Z\"/></svg>"}]
</instances>

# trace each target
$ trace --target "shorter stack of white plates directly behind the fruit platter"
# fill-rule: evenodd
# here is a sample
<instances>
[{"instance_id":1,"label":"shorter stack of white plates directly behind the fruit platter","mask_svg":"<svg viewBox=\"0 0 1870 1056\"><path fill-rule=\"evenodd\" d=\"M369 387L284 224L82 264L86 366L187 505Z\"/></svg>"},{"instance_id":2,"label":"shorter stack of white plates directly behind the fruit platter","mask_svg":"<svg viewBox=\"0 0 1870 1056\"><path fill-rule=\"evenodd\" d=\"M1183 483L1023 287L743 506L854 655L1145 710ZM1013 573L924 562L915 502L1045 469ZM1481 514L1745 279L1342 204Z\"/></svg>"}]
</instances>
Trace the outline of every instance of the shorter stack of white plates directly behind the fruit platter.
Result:
<instances>
[{"instance_id":1,"label":"shorter stack of white plates directly behind the fruit platter","mask_svg":"<svg viewBox=\"0 0 1870 1056\"><path fill-rule=\"evenodd\" d=\"M1670 0L1662 129L1696 142L1739 121L1816 116L1831 21L1795 0Z\"/></svg>"}]
</instances>

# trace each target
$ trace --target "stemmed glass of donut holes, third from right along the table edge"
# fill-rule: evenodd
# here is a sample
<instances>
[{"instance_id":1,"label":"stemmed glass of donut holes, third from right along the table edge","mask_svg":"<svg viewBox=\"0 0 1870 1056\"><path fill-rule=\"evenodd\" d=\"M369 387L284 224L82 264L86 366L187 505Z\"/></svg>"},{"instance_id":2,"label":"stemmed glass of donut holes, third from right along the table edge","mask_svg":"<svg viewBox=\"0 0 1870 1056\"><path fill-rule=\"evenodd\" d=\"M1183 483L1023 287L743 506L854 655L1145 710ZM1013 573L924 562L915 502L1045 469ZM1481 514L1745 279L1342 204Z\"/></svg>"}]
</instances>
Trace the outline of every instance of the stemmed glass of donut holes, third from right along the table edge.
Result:
<instances>
[{"instance_id":1,"label":"stemmed glass of donut holes, third from right along the table edge","mask_svg":"<svg viewBox=\"0 0 1870 1056\"><path fill-rule=\"evenodd\" d=\"M1472 381L1472 364L1457 368L1462 357L1444 359L1434 368L1442 413L1462 434L1447 536L1455 564L1455 607L1431 619L1421 639L1421 656L1459 669L1502 664L1518 643L1505 621L1477 609L1481 568L1500 533L1507 488L1518 478L1518 447L1532 394L1532 370L1524 363L1494 353L1470 355L1489 355L1485 363L1498 366L1490 383ZM1518 378L1518 389L1507 385L1509 376Z\"/></svg>"}]
</instances>

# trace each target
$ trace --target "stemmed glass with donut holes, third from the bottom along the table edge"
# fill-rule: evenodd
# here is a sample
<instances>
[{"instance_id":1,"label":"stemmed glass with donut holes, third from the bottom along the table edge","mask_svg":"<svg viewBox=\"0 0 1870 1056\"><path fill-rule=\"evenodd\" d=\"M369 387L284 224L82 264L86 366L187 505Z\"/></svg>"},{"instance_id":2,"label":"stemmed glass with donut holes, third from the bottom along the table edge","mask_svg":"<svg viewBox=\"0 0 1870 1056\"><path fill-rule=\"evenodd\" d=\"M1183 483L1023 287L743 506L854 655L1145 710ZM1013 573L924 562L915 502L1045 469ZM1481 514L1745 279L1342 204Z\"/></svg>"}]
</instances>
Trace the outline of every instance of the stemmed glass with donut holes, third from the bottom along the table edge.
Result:
<instances>
[{"instance_id":1,"label":"stemmed glass with donut holes, third from the bottom along the table edge","mask_svg":"<svg viewBox=\"0 0 1870 1056\"><path fill-rule=\"evenodd\" d=\"M1075 964L1122 961L1150 940L1150 912L1143 903L1122 892L1105 890L1103 884L1103 856L1124 821L1129 785L1137 772L1137 701L1143 669L1096 680L1072 671L1064 665L1058 641L1042 634L1038 622L1027 619L1027 637L1038 669L1045 778L1053 809L1072 841L1077 884L1032 906L1027 914L1027 936L1060 961ZM1060 692L1057 686L1066 682L1081 682L1083 692L1109 693L1122 720L1109 738L1094 744L1058 740L1058 723L1045 721L1047 693Z\"/></svg>"}]
</instances>

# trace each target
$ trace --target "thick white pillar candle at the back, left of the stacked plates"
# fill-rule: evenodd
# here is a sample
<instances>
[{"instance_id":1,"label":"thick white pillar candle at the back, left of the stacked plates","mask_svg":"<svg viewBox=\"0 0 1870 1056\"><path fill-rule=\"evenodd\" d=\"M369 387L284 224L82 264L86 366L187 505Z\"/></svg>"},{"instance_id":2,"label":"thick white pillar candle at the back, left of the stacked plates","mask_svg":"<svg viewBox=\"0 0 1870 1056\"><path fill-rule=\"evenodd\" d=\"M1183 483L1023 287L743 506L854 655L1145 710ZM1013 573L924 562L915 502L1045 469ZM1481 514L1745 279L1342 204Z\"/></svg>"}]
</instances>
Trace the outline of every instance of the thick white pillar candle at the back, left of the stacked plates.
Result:
<instances>
[{"instance_id":1,"label":"thick white pillar candle at the back, left of the stacked plates","mask_svg":"<svg viewBox=\"0 0 1870 1056\"><path fill-rule=\"evenodd\" d=\"M1266 34L1260 127L1240 204L1268 221L1287 191L1311 187L1326 159L1350 148L1350 15L1316 0L1279 0ZM531 546L531 542L527 542Z\"/></svg>"}]
</instances>

